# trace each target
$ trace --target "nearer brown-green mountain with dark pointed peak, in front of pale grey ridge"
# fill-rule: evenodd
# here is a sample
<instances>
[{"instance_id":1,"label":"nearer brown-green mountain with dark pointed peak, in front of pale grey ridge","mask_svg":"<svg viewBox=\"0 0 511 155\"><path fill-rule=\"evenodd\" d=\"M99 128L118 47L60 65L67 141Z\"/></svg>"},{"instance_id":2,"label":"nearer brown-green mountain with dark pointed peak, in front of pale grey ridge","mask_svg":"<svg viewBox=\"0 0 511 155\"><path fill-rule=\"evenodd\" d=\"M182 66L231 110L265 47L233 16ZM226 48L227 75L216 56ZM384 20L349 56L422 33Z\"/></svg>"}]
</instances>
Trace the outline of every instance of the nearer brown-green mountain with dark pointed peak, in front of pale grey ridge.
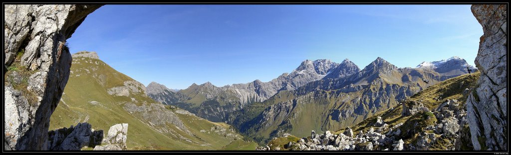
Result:
<instances>
[{"instance_id":1,"label":"nearer brown-green mountain with dark pointed peak, in front of pale grey ridge","mask_svg":"<svg viewBox=\"0 0 511 155\"><path fill-rule=\"evenodd\" d=\"M256 140L283 133L304 136L311 130L339 130L445 79L432 69L398 68L377 58L351 76L321 79L277 93L262 102L264 106L248 106L244 113L251 115L240 115L233 125Z\"/></svg>"}]
</instances>

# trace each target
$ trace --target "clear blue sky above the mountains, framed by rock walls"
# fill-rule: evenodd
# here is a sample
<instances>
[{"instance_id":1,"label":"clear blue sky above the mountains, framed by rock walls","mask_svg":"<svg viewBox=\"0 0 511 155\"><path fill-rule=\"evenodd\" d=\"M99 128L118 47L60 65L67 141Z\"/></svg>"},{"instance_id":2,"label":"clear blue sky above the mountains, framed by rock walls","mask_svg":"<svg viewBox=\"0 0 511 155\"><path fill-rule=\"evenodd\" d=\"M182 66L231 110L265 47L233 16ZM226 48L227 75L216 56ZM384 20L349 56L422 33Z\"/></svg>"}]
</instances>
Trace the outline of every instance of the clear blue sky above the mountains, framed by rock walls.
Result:
<instances>
[{"instance_id":1,"label":"clear blue sky above the mountains, framed by rock walls","mask_svg":"<svg viewBox=\"0 0 511 155\"><path fill-rule=\"evenodd\" d=\"M474 65L481 35L470 5L106 5L67 42L146 86L185 89L267 82L306 59Z\"/></svg>"}]
</instances>

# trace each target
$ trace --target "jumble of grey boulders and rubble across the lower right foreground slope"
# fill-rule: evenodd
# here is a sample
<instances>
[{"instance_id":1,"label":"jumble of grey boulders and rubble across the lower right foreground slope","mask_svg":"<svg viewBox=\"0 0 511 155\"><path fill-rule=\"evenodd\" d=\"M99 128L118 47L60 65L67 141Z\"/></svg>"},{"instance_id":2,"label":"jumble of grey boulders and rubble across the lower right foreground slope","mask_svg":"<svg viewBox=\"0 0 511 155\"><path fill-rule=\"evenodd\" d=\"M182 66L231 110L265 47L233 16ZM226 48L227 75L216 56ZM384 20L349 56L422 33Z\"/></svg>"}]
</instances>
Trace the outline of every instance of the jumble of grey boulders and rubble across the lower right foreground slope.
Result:
<instances>
[{"instance_id":1,"label":"jumble of grey boulders and rubble across the lower right foreground slope","mask_svg":"<svg viewBox=\"0 0 511 155\"><path fill-rule=\"evenodd\" d=\"M350 127L340 134L333 134L331 131L317 134L312 131L310 137L290 141L283 147L273 146L270 142L269 145L258 147L257 150L429 150L432 145L439 143L450 143L445 149L456 150L454 144L461 140L460 124L466 124L466 112L460 106L460 102L448 99L433 111L421 106L423 104L417 101L406 100L401 105L403 117L413 115L410 117L412 121L389 125L381 117L377 117L373 127L366 132L359 131L354 134ZM415 131L415 126L426 130ZM403 141L409 135L417 133L420 136L416 142ZM292 135L284 134L273 141L285 140L290 136Z\"/></svg>"}]
</instances>

